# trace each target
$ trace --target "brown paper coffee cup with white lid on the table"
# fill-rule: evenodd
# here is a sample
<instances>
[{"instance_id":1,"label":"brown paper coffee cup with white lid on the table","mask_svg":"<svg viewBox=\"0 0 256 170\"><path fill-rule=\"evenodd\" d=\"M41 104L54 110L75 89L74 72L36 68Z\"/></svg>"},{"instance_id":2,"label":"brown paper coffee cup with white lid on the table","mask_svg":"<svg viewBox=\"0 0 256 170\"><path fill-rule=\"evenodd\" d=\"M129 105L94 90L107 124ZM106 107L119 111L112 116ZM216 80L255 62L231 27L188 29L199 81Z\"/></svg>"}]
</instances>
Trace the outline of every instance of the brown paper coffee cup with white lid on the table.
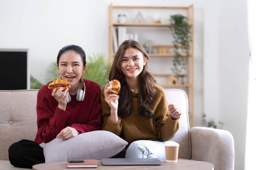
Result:
<instances>
[{"instance_id":1,"label":"brown paper coffee cup with white lid on the table","mask_svg":"<svg viewBox=\"0 0 256 170\"><path fill-rule=\"evenodd\" d=\"M165 158L166 162L177 162L179 144L174 141L165 142Z\"/></svg>"}]
</instances>

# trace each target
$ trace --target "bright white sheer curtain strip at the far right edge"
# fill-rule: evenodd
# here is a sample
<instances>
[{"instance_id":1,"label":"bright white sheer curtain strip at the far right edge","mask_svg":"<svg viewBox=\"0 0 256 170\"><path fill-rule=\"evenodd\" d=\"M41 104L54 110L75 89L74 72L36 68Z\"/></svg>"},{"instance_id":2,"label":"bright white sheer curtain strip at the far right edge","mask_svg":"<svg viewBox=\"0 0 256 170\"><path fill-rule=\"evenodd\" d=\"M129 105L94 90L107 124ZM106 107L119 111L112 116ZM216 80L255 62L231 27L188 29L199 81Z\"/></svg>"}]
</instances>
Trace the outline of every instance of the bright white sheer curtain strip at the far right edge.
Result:
<instances>
[{"instance_id":1,"label":"bright white sheer curtain strip at the far right edge","mask_svg":"<svg viewBox=\"0 0 256 170\"><path fill-rule=\"evenodd\" d=\"M252 170L256 167L256 0L247 0L247 5L250 64L244 169Z\"/></svg>"}]
</instances>

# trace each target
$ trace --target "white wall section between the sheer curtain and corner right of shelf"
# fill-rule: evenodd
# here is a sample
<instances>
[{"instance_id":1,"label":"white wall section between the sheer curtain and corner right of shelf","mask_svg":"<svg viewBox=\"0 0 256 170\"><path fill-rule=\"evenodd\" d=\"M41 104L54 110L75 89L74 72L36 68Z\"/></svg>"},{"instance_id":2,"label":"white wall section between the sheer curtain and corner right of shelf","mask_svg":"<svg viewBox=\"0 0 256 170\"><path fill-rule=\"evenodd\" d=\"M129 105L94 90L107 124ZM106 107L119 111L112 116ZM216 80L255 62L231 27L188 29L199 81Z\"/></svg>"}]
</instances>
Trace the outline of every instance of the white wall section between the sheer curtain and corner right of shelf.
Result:
<instances>
[{"instance_id":1,"label":"white wall section between the sheer curtain and corner right of shelf","mask_svg":"<svg viewBox=\"0 0 256 170\"><path fill-rule=\"evenodd\" d=\"M204 1L204 110L235 140L244 169L249 46L245 0Z\"/></svg>"}]
</instances>

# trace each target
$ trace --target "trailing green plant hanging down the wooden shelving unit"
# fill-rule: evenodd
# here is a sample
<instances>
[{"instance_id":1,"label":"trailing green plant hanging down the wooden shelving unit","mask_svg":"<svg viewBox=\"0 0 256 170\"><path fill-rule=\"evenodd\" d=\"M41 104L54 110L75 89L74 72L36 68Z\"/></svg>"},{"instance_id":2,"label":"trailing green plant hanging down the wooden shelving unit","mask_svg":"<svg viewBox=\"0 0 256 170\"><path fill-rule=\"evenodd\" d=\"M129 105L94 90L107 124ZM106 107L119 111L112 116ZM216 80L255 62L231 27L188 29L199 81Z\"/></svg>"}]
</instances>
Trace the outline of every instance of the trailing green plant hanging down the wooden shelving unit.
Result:
<instances>
[{"instance_id":1,"label":"trailing green plant hanging down the wooden shelving unit","mask_svg":"<svg viewBox=\"0 0 256 170\"><path fill-rule=\"evenodd\" d=\"M175 74L181 73L181 69L186 69L186 62L181 55L182 53L189 56L190 42L192 41L191 26L188 24L187 17L182 15L170 16L170 29L174 37L174 53L172 71Z\"/></svg>"}]
</instances>

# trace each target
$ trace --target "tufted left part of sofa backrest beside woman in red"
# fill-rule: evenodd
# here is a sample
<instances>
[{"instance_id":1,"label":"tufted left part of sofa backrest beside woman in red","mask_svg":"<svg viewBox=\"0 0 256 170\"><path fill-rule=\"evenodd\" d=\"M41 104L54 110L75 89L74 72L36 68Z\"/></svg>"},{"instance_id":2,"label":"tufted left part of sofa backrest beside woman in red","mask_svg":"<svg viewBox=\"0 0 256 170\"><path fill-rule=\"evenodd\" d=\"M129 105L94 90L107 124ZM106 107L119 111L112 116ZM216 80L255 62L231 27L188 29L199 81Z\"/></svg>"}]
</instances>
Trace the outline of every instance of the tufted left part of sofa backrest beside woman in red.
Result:
<instances>
[{"instance_id":1,"label":"tufted left part of sofa backrest beside woman in red","mask_svg":"<svg viewBox=\"0 0 256 170\"><path fill-rule=\"evenodd\" d=\"M38 90L0 90L0 160L8 160L9 146L37 133Z\"/></svg>"}]
</instances>

